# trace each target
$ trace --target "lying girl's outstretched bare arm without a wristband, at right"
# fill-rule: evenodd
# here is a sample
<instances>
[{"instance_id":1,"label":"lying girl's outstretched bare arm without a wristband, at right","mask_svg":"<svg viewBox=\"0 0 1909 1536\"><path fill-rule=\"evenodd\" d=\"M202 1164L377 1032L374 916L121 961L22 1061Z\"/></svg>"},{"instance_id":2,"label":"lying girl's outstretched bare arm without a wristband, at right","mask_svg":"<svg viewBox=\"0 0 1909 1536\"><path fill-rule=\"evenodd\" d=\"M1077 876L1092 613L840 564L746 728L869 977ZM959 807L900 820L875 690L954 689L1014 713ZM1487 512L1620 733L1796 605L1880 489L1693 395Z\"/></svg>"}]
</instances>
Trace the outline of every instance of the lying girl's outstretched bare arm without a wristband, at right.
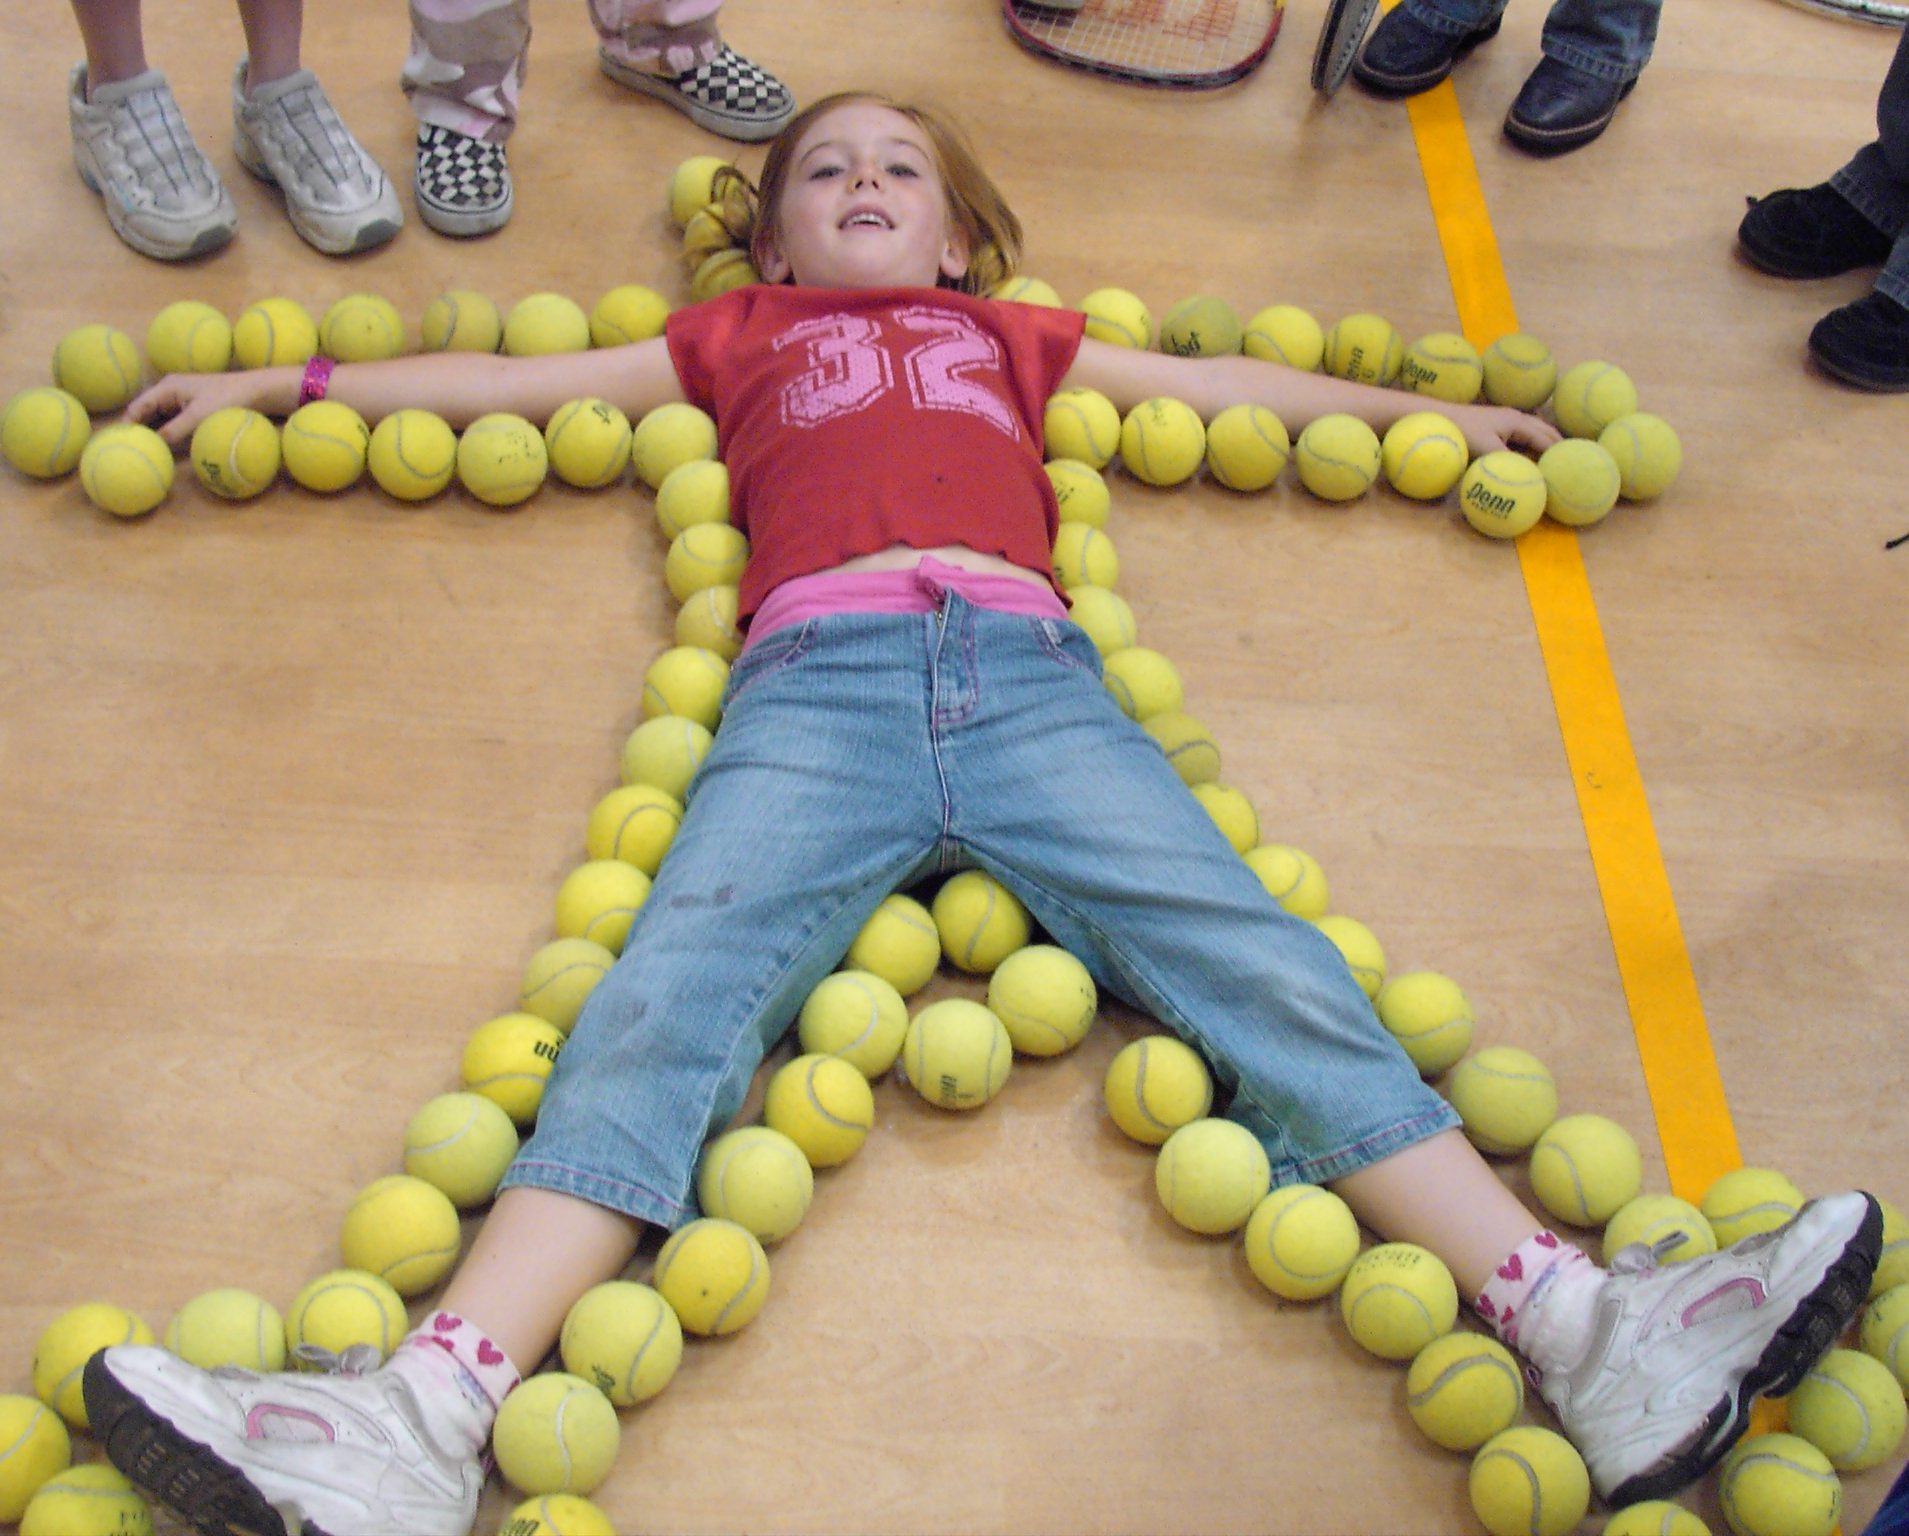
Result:
<instances>
[{"instance_id":1,"label":"lying girl's outstretched bare arm without a wristband, at right","mask_svg":"<svg viewBox=\"0 0 1909 1536\"><path fill-rule=\"evenodd\" d=\"M1124 414L1155 395L1172 395L1212 420L1229 405L1264 405L1294 437L1317 416L1346 412L1384 433L1399 416L1437 410L1464 433L1474 454L1491 448L1544 450L1560 433L1550 422L1499 405L1447 405L1405 389L1352 384L1331 374L1302 374L1258 357L1172 357L1113 347L1086 338L1063 387L1098 389Z\"/></svg>"}]
</instances>

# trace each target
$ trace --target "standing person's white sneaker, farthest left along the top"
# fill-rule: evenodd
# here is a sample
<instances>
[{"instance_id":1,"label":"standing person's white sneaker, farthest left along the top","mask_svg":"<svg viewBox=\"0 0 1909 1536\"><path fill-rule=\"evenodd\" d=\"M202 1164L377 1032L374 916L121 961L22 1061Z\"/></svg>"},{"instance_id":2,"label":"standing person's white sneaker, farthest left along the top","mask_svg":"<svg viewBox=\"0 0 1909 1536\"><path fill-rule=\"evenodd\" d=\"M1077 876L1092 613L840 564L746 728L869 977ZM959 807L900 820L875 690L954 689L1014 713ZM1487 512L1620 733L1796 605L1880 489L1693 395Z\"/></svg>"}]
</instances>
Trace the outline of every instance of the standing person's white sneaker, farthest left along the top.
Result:
<instances>
[{"instance_id":1,"label":"standing person's white sneaker, farthest left along the top","mask_svg":"<svg viewBox=\"0 0 1909 1536\"><path fill-rule=\"evenodd\" d=\"M88 101L86 65L74 65L67 122L80 179L105 200L113 231L141 256L183 261L231 240L239 210L157 69L99 86Z\"/></svg>"}]
</instances>

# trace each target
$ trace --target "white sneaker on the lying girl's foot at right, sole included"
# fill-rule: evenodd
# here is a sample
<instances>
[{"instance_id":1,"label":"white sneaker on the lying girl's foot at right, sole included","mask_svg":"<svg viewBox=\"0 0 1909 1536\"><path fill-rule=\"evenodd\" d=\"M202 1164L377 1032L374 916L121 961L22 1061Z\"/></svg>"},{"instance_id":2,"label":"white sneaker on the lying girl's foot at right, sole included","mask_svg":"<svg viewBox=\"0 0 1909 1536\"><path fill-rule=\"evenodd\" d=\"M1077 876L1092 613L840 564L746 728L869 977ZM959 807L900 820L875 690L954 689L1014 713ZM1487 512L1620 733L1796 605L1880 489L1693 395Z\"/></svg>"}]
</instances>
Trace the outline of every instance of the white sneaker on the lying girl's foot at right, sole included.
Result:
<instances>
[{"instance_id":1,"label":"white sneaker on the lying girl's foot at right, sole included","mask_svg":"<svg viewBox=\"0 0 1909 1536\"><path fill-rule=\"evenodd\" d=\"M1751 1402L1789 1393L1836 1341L1880 1250L1882 1212L1861 1193L1663 1269L1644 1244L1621 1250L1590 1351L1539 1387L1604 1502L1668 1498L1720 1462Z\"/></svg>"}]
</instances>

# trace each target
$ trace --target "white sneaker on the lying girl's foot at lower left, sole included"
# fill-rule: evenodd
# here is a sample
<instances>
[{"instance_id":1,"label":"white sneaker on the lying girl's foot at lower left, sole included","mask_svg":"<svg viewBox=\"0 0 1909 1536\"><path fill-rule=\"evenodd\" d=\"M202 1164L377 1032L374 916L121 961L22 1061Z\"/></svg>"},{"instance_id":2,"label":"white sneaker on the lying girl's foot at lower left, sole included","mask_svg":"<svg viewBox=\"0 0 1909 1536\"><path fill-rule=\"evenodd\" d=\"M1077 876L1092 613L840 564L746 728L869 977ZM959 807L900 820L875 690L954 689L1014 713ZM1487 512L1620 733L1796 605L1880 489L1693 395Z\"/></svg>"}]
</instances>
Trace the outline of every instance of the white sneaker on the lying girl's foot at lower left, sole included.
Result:
<instances>
[{"instance_id":1,"label":"white sneaker on the lying girl's foot at lower left, sole included","mask_svg":"<svg viewBox=\"0 0 1909 1536\"><path fill-rule=\"evenodd\" d=\"M483 1471L443 1448L393 1372L199 1370L103 1349L82 1376L113 1465L206 1532L466 1536Z\"/></svg>"}]
</instances>

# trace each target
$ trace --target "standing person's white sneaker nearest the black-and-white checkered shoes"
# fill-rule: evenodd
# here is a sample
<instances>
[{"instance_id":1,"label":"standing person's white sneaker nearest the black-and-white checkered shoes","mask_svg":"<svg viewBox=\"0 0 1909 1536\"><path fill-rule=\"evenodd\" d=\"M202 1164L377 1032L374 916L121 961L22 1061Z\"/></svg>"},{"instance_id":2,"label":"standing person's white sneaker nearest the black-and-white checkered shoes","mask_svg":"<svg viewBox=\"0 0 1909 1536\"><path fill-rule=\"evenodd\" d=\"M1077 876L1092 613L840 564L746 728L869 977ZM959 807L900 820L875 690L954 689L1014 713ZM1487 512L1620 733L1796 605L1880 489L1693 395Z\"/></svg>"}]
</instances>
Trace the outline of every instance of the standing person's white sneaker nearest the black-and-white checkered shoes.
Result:
<instances>
[{"instance_id":1,"label":"standing person's white sneaker nearest the black-and-white checkered shoes","mask_svg":"<svg viewBox=\"0 0 1909 1536\"><path fill-rule=\"evenodd\" d=\"M246 61L233 71L233 153L248 172L284 193L300 239L326 256L382 246L405 210L378 162L332 109L309 69L244 90Z\"/></svg>"}]
</instances>

